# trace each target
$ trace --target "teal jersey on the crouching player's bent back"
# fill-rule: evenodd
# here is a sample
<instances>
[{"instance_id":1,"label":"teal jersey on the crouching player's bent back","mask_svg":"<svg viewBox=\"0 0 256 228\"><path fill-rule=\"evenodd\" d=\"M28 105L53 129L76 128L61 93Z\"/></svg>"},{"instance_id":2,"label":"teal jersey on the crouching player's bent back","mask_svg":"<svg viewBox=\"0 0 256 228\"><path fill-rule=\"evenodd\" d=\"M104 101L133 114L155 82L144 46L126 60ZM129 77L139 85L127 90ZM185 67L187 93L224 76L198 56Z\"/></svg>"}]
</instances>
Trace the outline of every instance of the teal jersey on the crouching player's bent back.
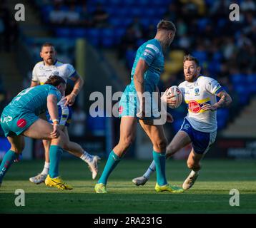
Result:
<instances>
[{"instance_id":1,"label":"teal jersey on the crouching player's bent back","mask_svg":"<svg viewBox=\"0 0 256 228\"><path fill-rule=\"evenodd\" d=\"M39 115L46 111L47 97L51 94L56 96L57 101L61 100L61 93L54 86L42 85L26 88L16 95L7 107L12 108L12 113L26 110L26 112Z\"/></svg>"}]
</instances>

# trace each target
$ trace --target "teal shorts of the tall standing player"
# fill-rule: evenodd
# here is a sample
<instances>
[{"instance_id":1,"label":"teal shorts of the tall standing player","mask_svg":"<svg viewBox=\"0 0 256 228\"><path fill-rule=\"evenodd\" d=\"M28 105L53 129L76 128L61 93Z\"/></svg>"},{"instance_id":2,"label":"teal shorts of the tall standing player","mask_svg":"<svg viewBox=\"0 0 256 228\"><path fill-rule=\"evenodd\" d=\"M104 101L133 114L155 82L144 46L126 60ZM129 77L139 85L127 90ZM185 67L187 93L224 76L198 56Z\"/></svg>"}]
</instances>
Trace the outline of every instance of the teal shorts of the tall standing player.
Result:
<instances>
[{"instance_id":1,"label":"teal shorts of the tall standing player","mask_svg":"<svg viewBox=\"0 0 256 228\"><path fill-rule=\"evenodd\" d=\"M157 97L154 98L154 95L152 95L154 90L150 86L145 86L145 92L144 119L157 119L160 117L160 113L158 104L156 102ZM139 99L137 98L137 92L134 90L134 88L132 88L131 85L128 85L119 101L119 117L132 116L138 118L137 113L139 113L139 110Z\"/></svg>"}]
</instances>

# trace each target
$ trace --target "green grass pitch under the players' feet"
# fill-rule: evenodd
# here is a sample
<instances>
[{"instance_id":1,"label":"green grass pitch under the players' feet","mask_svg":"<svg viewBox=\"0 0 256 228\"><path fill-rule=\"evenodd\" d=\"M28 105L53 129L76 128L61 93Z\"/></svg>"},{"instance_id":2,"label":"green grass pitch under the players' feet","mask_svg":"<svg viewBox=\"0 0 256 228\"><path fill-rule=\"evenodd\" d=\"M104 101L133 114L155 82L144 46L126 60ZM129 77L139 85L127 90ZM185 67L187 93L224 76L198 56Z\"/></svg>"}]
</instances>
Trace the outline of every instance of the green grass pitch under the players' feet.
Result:
<instances>
[{"instance_id":1,"label":"green grass pitch under the players' feet","mask_svg":"<svg viewBox=\"0 0 256 228\"><path fill-rule=\"evenodd\" d=\"M155 192L155 174L143 187L134 186L132 178L142 175L149 161L120 162L105 195L94 193L96 180L84 162L75 159L61 160L60 165L61 176L74 190L32 184L29 177L41 171L43 164L22 161L12 165L0 188L0 213L256 213L256 162L252 160L204 160L195 186L182 194ZM100 173L104 164L99 164ZM168 182L182 185L188 174L184 160L167 161ZM14 204L19 188L26 193L25 207ZM239 207L229 204L234 188L240 192Z\"/></svg>"}]
</instances>

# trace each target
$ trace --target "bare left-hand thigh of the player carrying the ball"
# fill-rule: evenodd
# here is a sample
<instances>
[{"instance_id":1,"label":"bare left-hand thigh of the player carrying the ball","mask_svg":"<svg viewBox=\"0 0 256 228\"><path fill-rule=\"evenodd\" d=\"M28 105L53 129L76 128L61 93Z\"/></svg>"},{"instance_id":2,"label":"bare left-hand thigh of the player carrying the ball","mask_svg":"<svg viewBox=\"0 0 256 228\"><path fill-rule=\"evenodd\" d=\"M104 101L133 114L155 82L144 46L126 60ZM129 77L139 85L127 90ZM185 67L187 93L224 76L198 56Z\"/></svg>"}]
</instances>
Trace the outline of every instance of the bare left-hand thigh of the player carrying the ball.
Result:
<instances>
[{"instance_id":1,"label":"bare left-hand thigh of the player carrying the ball","mask_svg":"<svg viewBox=\"0 0 256 228\"><path fill-rule=\"evenodd\" d=\"M191 138L189 135L183 130L179 130L169 145L167 145L167 153L172 155L186 145L189 145L190 142Z\"/></svg>"}]
</instances>

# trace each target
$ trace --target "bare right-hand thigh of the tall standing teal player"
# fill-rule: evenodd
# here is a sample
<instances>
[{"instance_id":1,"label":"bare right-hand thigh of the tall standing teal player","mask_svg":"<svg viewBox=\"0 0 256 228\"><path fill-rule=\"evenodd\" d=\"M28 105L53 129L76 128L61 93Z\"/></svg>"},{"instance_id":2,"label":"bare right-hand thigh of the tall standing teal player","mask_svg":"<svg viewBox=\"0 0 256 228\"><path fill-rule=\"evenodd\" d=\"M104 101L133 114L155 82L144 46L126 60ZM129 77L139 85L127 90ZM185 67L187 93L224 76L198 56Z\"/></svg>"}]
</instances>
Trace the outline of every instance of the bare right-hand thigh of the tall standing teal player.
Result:
<instances>
[{"instance_id":1,"label":"bare right-hand thigh of the tall standing teal player","mask_svg":"<svg viewBox=\"0 0 256 228\"><path fill-rule=\"evenodd\" d=\"M154 145L161 145L167 143L163 125L151 125L148 124L147 120L139 120L139 123Z\"/></svg>"}]
</instances>

